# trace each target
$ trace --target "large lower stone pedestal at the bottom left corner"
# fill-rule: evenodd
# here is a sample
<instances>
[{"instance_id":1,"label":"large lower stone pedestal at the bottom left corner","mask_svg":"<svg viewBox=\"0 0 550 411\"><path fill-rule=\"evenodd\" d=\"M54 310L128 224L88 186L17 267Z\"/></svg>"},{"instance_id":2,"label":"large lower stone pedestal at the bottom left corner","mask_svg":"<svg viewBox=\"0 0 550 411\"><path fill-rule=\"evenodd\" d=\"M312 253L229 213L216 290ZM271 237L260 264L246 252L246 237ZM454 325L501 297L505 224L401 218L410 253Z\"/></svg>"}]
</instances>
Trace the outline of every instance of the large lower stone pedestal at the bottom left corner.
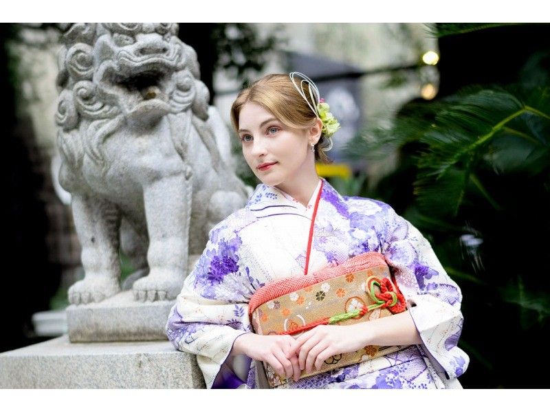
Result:
<instances>
[{"instance_id":1,"label":"large lower stone pedestal at the bottom left corner","mask_svg":"<svg viewBox=\"0 0 550 411\"><path fill-rule=\"evenodd\" d=\"M195 355L162 342L72 343L0 354L0 388L205 388Z\"/></svg>"}]
</instances>

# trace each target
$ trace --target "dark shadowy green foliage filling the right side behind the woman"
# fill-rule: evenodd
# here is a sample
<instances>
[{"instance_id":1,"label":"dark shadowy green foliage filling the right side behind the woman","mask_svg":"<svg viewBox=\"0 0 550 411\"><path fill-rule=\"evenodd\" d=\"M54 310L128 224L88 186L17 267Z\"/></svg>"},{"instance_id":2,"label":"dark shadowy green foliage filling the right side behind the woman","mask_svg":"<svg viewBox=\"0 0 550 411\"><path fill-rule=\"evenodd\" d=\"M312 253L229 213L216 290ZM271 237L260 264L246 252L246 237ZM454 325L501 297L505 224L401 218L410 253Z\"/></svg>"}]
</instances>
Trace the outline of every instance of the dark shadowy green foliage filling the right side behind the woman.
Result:
<instances>
[{"instance_id":1,"label":"dark shadowy green foliage filling the right side behind the woman","mask_svg":"<svg viewBox=\"0 0 550 411\"><path fill-rule=\"evenodd\" d=\"M390 203L426 235L463 292L465 388L548 388L550 25L433 25L441 87L371 124L351 158L397 150L353 195ZM344 183L342 189L346 188Z\"/></svg>"}]
</instances>

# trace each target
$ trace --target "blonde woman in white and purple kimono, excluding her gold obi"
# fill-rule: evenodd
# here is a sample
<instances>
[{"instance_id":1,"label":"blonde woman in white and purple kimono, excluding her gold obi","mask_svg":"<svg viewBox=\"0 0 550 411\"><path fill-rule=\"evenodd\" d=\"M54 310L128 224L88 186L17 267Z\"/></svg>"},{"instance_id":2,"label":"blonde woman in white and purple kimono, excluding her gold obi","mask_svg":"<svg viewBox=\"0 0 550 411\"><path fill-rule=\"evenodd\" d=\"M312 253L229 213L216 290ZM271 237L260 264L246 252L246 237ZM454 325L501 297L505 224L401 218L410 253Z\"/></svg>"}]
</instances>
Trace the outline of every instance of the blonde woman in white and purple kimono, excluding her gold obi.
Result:
<instances>
[{"instance_id":1,"label":"blonde woman in white and purple kimono, excluding her gold obi","mask_svg":"<svg viewBox=\"0 0 550 411\"><path fill-rule=\"evenodd\" d=\"M324 151L338 130L328 109L314 83L298 73L265 76L236 98L232 123L262 184L245 208L210 231L170 312L168 338L197 355L207 388L266 388L262 362L288 377L276 388L461 388L457 377L470 361L456 346L461 291L428 241L390 206L341 196L317 175L315 161L329 162ZM257 289L369 251L383 254L393 269L407 311L316 326L296 339L253 333L248 302ZM332 355L369 344L404 348L298 379Z\"/></svg>"}]
</instances>

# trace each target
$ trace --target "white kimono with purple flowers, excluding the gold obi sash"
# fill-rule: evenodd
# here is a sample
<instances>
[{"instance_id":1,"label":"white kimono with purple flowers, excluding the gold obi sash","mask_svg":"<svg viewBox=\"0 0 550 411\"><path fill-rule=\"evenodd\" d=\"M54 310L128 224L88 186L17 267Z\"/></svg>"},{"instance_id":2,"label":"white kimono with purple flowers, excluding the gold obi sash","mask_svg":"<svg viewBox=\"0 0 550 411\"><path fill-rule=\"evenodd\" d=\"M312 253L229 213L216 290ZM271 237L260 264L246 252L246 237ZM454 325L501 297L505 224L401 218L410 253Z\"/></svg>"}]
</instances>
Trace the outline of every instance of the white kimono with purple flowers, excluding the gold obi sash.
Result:
<instances>
[{"instance_id":1,"label":"white kimono with purple flowers, excluding the gold obi sash","mask_svg":"<svg viewBox=\"0 0 550 411\"><path fill-rule=\"evenodd\" d=\"M276 388L462 388L470 358L456 344L462 294L432 247L381 201L341 196L325 179L314 226L309 272L364 252L380 252L395 273L423 344L305 377ZM303 276L309 204L259 184L245 208L218 223L170 312L166 334L197 355L207 388L268 388L261 362L230 356L236 337L253 332L250 297L263 285ZM276 309L277 307L275 307Z\"/></svg>"}]
</instances>

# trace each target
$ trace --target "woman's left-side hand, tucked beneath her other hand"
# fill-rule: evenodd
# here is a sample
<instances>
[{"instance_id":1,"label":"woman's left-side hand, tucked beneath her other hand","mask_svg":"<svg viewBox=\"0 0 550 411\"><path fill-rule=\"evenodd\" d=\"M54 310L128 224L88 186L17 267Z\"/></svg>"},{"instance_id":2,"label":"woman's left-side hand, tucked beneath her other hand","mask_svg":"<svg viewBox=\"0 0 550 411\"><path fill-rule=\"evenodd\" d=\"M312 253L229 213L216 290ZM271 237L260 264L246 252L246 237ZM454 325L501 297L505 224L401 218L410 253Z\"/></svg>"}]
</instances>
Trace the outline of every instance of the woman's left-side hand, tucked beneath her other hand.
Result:
<instances>
[{"instance_id":1,"label":"woman's left-side hand, tucked beneath her other hand","mask_svg":"<svg viewBox=\"0 0 550 411\"><path fill-rule=\"evenodd\" d=\"M291 350L294 338L290 335L259 335L246 333L236 337L234 355L244 353L252 359L265 361L278 375L298 381L301 370L298 355Z\"/></svg>"}]
</instances>

